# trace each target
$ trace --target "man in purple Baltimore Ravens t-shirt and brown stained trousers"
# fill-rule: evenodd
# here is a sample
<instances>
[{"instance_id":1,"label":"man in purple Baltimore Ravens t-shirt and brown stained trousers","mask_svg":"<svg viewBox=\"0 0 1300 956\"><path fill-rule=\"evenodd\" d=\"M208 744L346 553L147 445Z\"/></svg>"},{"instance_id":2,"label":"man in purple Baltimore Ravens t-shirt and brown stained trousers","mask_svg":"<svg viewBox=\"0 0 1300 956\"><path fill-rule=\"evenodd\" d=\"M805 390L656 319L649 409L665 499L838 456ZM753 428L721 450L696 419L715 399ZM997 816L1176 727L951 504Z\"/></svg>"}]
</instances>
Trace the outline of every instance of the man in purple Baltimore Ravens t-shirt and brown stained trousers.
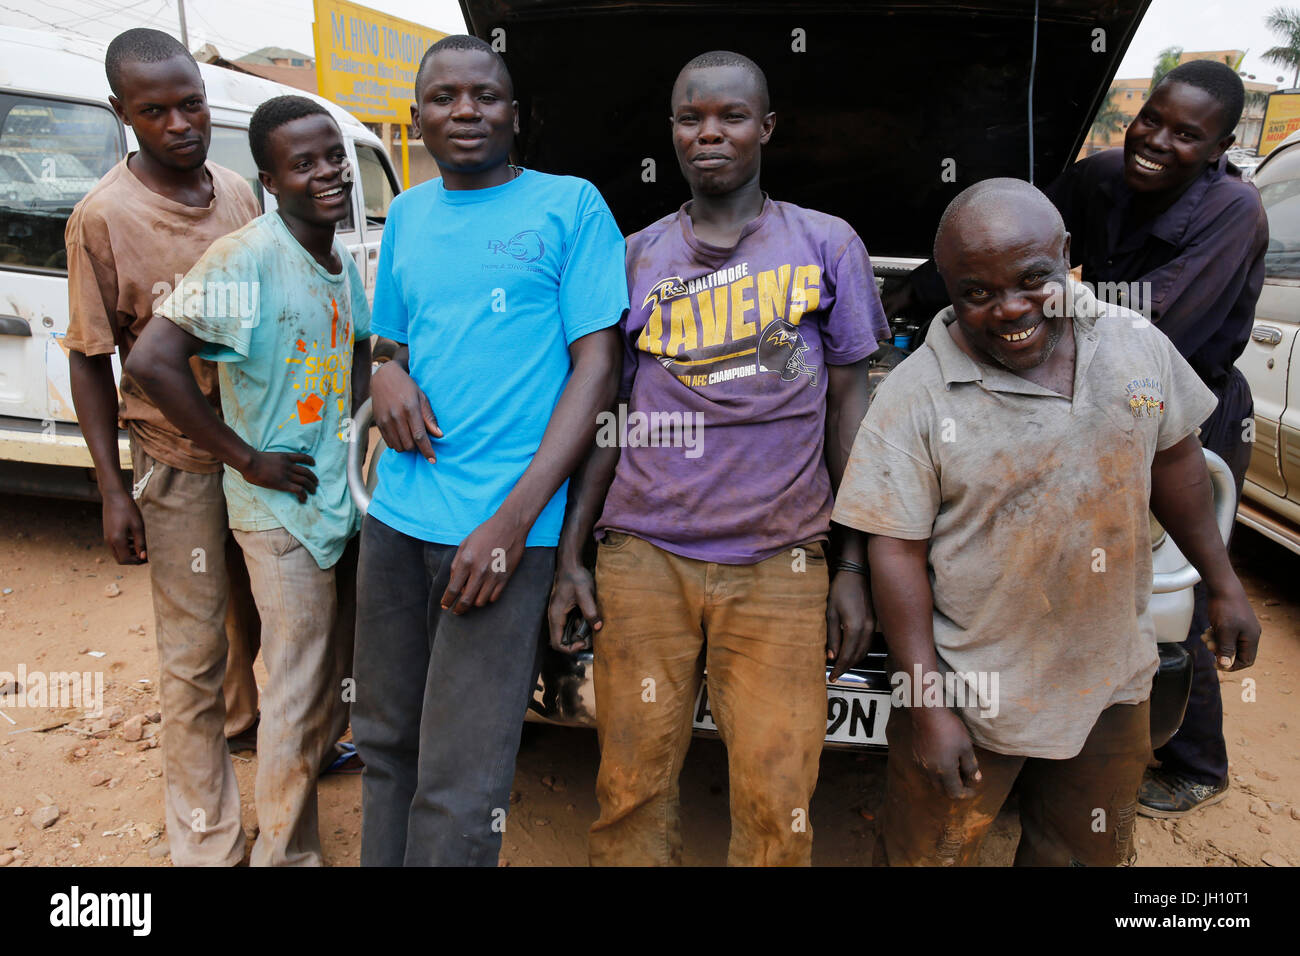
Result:
<instances>
[{"instance_id":1,"label":"man in purple Baltimore Ravens t-shirt and brown stained trousers","mask_svg":"<svg viewBox=\"0 0 1300 956\"><path fill-rule=\"evenodd\" d=\"M681 861L677 775L706 667L728 862L810 864L826 662L837 679L871 635L864 542L836 528L835 575L827 546L888 326L853 229L759 189L774 126L751 60L686 64L672 130L692 202L628 239L619 406L575 483L550 606L556 649L585 645L563 643L573 607L595 632L594 865Z\"/></svg>"}]
</instances>

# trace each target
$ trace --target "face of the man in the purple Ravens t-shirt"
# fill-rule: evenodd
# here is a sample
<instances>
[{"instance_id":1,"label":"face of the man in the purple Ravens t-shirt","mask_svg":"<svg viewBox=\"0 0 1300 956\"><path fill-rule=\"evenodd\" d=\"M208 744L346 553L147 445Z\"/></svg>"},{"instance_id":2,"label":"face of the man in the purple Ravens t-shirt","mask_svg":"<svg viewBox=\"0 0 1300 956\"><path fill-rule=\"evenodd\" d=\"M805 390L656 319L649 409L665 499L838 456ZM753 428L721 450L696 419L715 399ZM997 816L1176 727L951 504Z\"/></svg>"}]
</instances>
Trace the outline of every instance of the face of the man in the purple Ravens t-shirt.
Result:
<instances>
[{"instance_id":1,"label":"face of the man in the purple Ravens t-shirt","mask_svg":"<svg viewBox=\"0 0 1300 956\"><path fill-rule=\"evenodd\" d=\"M672 144L692 193L723 195L757 181L776 113L741 66L682 70L672 87Z\"/></svg>"}]
</instances>

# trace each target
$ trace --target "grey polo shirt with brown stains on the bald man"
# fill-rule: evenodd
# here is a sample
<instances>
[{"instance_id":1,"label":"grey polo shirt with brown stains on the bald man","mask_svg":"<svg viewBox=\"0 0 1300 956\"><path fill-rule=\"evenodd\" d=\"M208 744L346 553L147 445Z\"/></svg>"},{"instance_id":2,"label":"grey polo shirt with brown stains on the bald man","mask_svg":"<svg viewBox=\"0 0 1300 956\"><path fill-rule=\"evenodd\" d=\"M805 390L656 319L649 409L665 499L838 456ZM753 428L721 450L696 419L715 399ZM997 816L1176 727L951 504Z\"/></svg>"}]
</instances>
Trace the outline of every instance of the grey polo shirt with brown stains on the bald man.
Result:
<instances>
[{"instance_id":1,"label":"grey polo shirt with brown stains on the bald man","mask_svg":"<svg viewBox=\"0 0 1300 956\"><path fill-rule=\"evenodd\" d=\"M996 714L957 709L979 747L1026 757L1074 757L1102 710L1149 696L1150 464L1216 405L1140 315L1070 293L1072 398L972 360L949 307L876 392L832 515L930 538L940 669L997 679Z\"/></svg>"}]
</instances>

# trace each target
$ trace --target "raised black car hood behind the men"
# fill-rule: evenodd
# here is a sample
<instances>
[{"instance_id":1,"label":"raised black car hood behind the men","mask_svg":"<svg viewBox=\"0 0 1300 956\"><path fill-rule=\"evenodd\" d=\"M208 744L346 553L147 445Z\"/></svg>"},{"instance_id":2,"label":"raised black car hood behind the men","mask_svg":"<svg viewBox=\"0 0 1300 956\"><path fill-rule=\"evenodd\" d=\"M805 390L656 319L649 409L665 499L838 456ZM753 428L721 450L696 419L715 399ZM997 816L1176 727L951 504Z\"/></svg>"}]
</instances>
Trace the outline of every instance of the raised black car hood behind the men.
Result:
<instances>
[{"instance_id":1,"label":"raised black car hood behind the men","mask_svg":"<svg viewBox=\"0 0 1300 956\"><path fill-rule=\"evenodd\" d=\"M1035 35L1034 179L1046 183L1083 144L1149 3L1040 0L1037 26L1035 0L460 5L476 36L504 40L520 161L590 179L625 233L689 199L672 81L693 56L733 49L767 73L776 111L764 190L846 219L876 255L928 256L958 191L1030 178Z\"/></svg>"}]
</instances>

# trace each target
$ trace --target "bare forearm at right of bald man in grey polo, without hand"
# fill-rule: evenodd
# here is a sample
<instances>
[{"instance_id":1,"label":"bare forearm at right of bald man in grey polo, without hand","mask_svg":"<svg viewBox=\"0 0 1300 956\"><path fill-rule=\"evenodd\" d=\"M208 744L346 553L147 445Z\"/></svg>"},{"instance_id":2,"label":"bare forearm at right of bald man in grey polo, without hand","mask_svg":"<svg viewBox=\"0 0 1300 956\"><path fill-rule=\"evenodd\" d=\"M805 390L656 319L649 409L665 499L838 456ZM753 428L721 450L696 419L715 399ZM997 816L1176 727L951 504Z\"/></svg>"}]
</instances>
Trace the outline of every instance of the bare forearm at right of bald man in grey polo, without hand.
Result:
<instances>
[{"instance_id":1,"label":"bare forearm at right of bald man in grey polo, without hand","mask_svg":"<svg viewBox=\"0 0 1300 956\"><path fill-rule=\"evenodd\" d=\"M1150 510L1206 587L1235 581L1223 537L1214 522L1214 496L1196 436L1157 453L1150 467Z\"/></svg>"}]
</instances>

